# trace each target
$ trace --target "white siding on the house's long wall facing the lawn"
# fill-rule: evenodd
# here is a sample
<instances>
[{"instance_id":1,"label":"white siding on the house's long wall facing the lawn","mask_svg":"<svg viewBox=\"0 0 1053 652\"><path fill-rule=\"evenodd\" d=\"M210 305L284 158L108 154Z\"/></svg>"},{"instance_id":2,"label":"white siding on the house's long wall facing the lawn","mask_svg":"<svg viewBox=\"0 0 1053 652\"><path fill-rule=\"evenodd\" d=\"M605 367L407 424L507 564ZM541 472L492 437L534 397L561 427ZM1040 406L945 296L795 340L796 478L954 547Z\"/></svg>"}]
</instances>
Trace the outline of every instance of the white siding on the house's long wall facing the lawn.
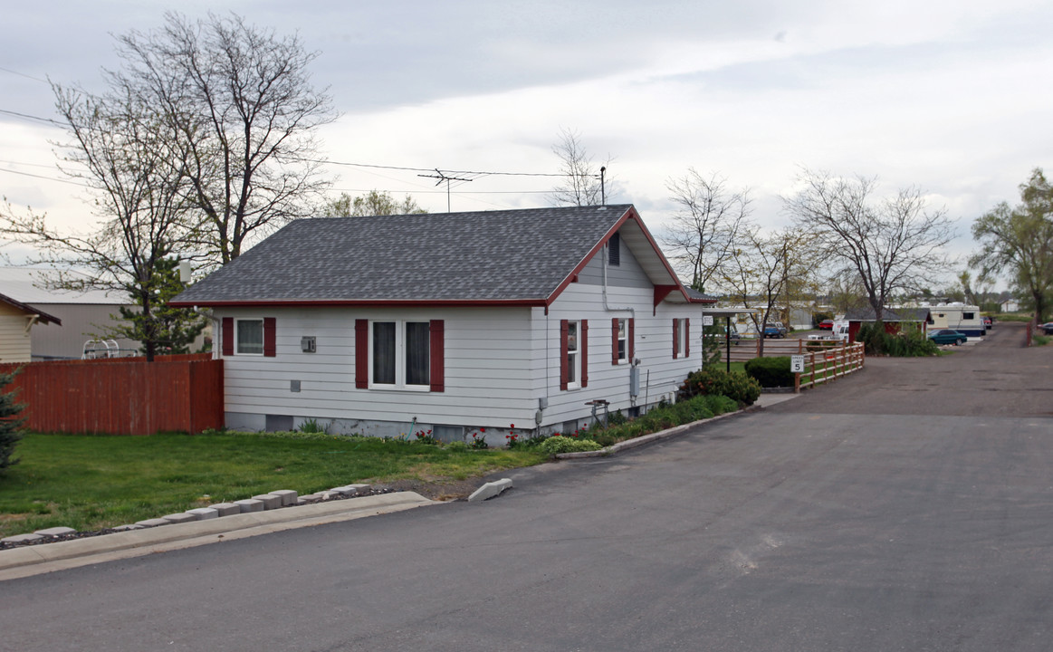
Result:
<instances>
[{"instance_id":1,"label":"white siding on the house's long wall facing the lawn","mask_svg":"<svg viewBox=\"0 0 1053 652\"><path fill-rule=\"evenodd\" d=\"M223 356L227 413L406 428L414 417L418 428L533 424L537 401L525 390L533 358L530 309L223 309L216 314L276 318L276 357ZM355 319L444 320L445 391L356 389ZM306 335L316 337L317 353L300 351ZM292 380L300 381L300 392L291 391Z\"/></svg>"}]
</instances>

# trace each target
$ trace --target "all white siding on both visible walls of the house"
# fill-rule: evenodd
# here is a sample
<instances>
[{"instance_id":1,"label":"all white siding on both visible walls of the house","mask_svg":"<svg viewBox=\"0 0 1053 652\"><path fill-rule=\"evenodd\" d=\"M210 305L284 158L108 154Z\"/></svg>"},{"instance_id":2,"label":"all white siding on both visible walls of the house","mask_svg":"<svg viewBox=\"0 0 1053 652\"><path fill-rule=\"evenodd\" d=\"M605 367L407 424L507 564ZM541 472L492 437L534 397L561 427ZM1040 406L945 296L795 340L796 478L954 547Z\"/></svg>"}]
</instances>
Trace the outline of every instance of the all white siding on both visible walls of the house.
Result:
<instances>
[{"instance_id":1,"label":"all white siding on both visible walls of the house","mask_svg":"<svg viewBox=\"0 0 1053 652\"><path fill-rule=\"evenodd\" d=\"M584 424L594 399L611 411L673 399L688 373L700 367L701 319L697 305L662 302L653 312L654 291L640 282L642 270L622 250L620 285L572 283L550 307L472 309L218 309L216 316L276 318L276 357L224 356L225 411L230 426L262 428L263 415L335 421L336 430L409 434L434 426L485 428L491 440L515 423L532 430L541 400L541 429L562 430L567 421ZM635 276L635 278L634 278ZM647 285L647 287L640 287ZM630 398L630 364L614 365L612 318L635 309L634 354L640 360L639 396ZM673 319L691 319L690 356L673 359ZM444 321L445 391L361 390L355 387L355 320ZM589 320L589 381L578 390L559 389L560 320ZM217 322L218 325L219 322ZM217 333L217 335L219 335ZM300 338L314 336L316 353L302 353ZM217 336L216 351L221 350ZM291 391L291 381L300 391ZM386 430L378 426L386 423Z\"/></svg>"}]
</instances>

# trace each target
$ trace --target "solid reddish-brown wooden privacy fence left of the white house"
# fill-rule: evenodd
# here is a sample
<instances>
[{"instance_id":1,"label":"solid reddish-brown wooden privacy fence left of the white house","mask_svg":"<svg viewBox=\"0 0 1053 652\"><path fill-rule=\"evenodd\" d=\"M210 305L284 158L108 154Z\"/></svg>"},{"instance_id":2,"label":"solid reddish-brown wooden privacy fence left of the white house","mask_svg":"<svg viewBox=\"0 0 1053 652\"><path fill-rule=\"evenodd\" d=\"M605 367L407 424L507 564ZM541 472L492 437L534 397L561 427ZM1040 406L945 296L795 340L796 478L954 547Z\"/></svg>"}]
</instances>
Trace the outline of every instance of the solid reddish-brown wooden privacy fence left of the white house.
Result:
<instances>
[{"instance_id":1,"label":"solid reddish-brown wooden privacy fence left of the white house","mask_svg":"<svg viewBox=\"0 0 1053 652\"><path fill-rule=\"evenodd\" d=\"M223 426L223 361L212 354L0 364L37 432L150 435Z\"/></svg>"}]
</instances>

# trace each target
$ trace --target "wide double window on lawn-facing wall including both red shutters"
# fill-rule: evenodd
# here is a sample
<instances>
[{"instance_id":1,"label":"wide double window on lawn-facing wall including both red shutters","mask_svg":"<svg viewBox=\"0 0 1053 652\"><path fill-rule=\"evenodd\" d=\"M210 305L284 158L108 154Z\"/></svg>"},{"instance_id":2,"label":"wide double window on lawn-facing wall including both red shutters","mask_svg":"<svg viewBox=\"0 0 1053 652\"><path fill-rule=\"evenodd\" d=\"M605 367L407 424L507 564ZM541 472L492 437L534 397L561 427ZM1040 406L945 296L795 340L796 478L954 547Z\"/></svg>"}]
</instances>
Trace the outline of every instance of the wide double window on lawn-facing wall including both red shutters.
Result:
<instances>
[{"instance_id":1,"label":"wide double window on lawn-facing wall including both red shutters","mask_svg":"<svg viewBox=\"0 0 1053 652\"><path fill-rule=\"evenodd\" d=\"M441 319L356 320L355 387L444 391L443 331Z\"/></svg>"}]
</instances>

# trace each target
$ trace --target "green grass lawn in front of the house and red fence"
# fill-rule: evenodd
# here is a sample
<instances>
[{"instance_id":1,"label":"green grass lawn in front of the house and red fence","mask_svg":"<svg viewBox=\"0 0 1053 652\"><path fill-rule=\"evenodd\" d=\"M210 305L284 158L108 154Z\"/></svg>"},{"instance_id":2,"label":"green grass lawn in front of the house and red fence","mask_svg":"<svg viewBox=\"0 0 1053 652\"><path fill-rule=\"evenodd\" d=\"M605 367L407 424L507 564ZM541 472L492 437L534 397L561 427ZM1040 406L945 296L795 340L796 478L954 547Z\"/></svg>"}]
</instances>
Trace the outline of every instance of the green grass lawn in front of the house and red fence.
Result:
<instances>
[{"instance_id":1,"label":"green grass lawn in front of the house and red fence","mask_svg":"<svg viewBox=\"0 0 1053 652\"><path fill-rule=\"evenodd\" d=\"M29 434L15 456L21 461L0 474L0 537L99 530L278 489L304 495L360 481L464 479L545 459L537 451L246 433Z\"/></svg>"}]
</instances>

